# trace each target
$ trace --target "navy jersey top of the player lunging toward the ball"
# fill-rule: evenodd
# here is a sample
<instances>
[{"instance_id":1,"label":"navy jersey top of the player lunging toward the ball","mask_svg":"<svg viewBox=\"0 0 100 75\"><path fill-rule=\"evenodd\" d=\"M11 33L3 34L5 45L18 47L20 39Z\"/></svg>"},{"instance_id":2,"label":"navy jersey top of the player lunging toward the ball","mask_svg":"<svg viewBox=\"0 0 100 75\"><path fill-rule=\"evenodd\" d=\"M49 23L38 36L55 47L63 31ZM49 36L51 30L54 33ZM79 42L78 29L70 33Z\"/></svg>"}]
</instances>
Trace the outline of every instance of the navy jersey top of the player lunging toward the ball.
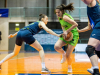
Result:
<instances>
[{"instance_id":1,"label":"navy jersey top of the player lunging toward the ball","mask_svg":"<svg viewBox=\"0 0 100 75\"><path fill-rule=\"evenodd\" d=\"M32 35L37 34L37 33L41 30L41 29L39 28L39 21L34 22L34 23L31 23L31 24L29 24L28 26L25 26L25 27L22 28L22 29L27 29L27 30L29 30L29 31L32 33Z\"/></svg>"}]
</instances>

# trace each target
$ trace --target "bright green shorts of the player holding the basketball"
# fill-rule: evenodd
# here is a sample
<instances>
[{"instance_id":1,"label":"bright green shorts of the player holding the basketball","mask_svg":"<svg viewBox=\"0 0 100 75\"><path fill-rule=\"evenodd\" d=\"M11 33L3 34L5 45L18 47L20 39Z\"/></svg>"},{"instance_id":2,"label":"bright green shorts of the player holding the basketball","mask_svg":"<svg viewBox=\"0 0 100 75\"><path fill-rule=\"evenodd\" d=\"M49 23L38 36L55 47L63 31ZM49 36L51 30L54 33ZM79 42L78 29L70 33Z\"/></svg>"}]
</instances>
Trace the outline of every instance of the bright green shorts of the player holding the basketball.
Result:
<instances>
[{"instance_id":1,"label":"bright green shorts of the player holding the basketball","mask_svg":"<svg viewBox=\"0 0 100 75\"><path fill-rule=\"evenodd\" d=\"M66 41L66 40L64 40L63 37L60 37L59 39L64 41L66 43L66 45L70 44L72 46L76 46L78 43L79 35L73 35L73 39L71 41Z\"/></svg>"}]
</instances>

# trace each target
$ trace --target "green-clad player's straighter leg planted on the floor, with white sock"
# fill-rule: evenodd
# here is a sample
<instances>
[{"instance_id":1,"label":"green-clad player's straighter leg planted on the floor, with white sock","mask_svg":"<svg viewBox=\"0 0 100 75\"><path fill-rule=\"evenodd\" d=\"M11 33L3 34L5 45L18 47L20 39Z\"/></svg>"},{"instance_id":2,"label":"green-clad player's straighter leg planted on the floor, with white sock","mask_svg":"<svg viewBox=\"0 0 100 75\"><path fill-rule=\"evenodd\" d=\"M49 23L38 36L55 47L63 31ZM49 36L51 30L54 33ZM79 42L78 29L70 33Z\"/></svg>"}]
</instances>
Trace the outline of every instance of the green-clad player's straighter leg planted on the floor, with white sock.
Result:
<instances>
[{"instance_id":1,"label":"green-clad player's straighter leg planted on the floor, with white sock","mask_svg":"<svg viewBox=\"0 0 100 75\"><path fill-rule=\"evenodd\" d=\"M67 63L68 63L68 72L72 72L72 58L71 58L71 54L74 50L75 46L72 46L70 44L68 44L68 48L66 50L66 59L67 59Z\"/></svg>"}]
</instances>

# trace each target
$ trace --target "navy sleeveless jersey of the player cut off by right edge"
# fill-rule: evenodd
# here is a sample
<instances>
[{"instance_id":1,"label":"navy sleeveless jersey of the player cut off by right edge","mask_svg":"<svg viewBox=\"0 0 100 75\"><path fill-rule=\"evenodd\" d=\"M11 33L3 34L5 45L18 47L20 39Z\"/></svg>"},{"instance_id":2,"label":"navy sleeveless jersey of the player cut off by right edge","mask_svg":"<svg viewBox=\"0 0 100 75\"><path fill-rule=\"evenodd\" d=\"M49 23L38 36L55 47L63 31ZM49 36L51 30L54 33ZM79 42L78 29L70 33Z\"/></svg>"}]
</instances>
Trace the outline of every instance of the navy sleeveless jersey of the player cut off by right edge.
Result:
<instances>
[{"instance_id":1,"label":"navy sleeveless jersey of the player cut off by right edge","mask_svg":"<svg viewBox=\"0 0 100 75\"><path fill-rule=\"evenodd\" d=\"M94 29L95 27L100 28L100 24L97 24L100 22L100 4L96 2L96 5L94 7L88 7L87 6L87 15L91 24L91 27Z\"/></svg>"}]
</instances>

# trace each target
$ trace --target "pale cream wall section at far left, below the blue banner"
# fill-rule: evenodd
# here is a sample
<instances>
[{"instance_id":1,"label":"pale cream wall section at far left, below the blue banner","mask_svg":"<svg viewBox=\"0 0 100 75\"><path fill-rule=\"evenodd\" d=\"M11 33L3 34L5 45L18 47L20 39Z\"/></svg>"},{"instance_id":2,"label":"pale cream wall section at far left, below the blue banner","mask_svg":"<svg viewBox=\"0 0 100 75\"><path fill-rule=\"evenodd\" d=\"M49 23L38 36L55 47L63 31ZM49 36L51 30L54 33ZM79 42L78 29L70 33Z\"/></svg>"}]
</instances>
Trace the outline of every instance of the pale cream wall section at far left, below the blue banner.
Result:
<instances>
[{"instance_id":1,"label":"pale cream wall section at far left, below the blue banner","mask_svg":"<svg viewBox=\"0 0 100 75\"><path fill-rule=\"evenodd\" d=\"M0 31L2 32L0 50L8 50L8 18L0 18Z\"/></svg>"}]
</instances>

